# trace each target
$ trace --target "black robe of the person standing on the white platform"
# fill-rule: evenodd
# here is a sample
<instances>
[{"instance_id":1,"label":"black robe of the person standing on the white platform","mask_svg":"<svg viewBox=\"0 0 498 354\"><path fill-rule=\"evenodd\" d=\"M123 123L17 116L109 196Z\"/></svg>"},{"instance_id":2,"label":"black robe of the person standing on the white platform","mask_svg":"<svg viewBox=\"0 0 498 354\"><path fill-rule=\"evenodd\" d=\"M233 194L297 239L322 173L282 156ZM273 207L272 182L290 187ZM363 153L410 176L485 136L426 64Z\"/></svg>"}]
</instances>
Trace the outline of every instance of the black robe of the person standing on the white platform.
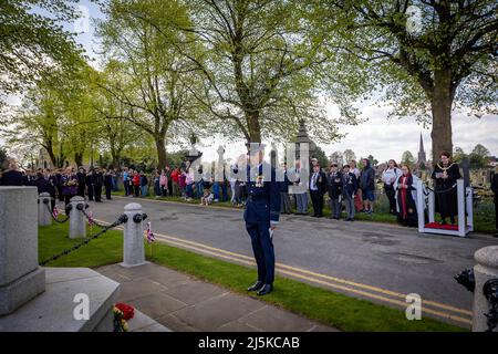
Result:
<instances>
[{"instance_id":1,"label":"black robe of the person standing on the white platform","mask_svg":"<svg viewBox=\"0 0 498 354\"><path fill-rule=\"evenodd\" d=\"M446 168L448 178L436 178L436 174L443 173L444 170L445 169L442 168L440 165L436 165L433 175L430 176L436 183L436 212L439 212L442 218L458 215L457 188L452 187L461 178L460 169L457 164L452 164Z\"/></svg>"}]
</instances>

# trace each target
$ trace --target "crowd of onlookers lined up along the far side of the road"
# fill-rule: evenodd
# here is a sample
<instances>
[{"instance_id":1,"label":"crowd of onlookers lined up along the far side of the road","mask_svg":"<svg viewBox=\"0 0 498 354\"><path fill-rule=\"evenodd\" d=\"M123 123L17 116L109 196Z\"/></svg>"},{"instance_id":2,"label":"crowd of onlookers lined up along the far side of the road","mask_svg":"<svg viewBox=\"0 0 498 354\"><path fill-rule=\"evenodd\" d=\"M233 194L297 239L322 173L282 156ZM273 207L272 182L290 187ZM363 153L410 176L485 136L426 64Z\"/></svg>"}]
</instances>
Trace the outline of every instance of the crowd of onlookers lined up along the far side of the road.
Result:
<instances>
[{"instance_id":1,"label":"crowd of onlookers lined up along the far side of the road","mask_svg":"<svg viewBox=\"0 0 498 354\"><path fill-rule=\"evenodd\" d=\"M242 159L242 160L241 160ZM39 192L49 192L52 206L59 199L68 204L74 196L87 197L89 200L102 201L112 199L112 191L117 191L123 185L124 194L128 197L179 197L187 201L198 200L208 206L218 201L228 201L236 207L243 207L247 200L246 180L238 178L238 166L243 165L239 158L228 173L222 171L222 180L215 181L211 174L203 173L200 166L197 173L201 178L195 178L190 162L185 160L180 166L166 166L145 174L128 167L117 169L79 167L65 169L39 168L34 171L21 171L15 163L11 162L9 168L0 176L1 185L6 186L35 186ZM343 166L331 163L320 166L317 158L311 159L308 173L295 160L294 167L289 169L286 164L277 168L283 176L281 186L281 214L309 214L311 198L312 216L323 217L323 206L328 196L331 210L330 218L339 220L343 209L344 220L353 221L356 212L373 214L376 201L375 170L369 159L363 159L363 168L357 168L355 160ZM303 176L308 183L303 184ZM452 162L449 153L440 154L440 162L436 164L432 178L436 191L436 211L440 215L440 223L446 225L447 219L455 225L458 215L456 188L457 179L461 178L459 167ZM384 194L388 200L390 214L396 215L400 223L415 227L417 225L417 177L412 174L408 165L398 166L391 159L380 177ZM495 204L498 205L498 177L492 181ZM294 212L292 210L295 210ZM498 222L498 221L497 221ZM498 230L498 223L497 223Z\"/></svg>"}]
</instances>

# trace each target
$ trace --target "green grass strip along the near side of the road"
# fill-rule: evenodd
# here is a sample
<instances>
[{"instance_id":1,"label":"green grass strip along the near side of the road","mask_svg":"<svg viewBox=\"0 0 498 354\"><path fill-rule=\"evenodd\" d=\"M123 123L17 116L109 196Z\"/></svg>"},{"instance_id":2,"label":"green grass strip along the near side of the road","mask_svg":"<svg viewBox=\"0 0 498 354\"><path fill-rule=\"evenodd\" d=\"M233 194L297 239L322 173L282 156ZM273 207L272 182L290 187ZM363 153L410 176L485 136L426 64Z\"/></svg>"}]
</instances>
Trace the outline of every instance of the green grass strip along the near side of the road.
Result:
<instances>
[{"instance_id":1,"label":"green grass strip along the near side of the road","mask_svg":"<svg viewBox=\"0 0 498 354\"><path fill-rule=\"evenodd\" d=\"M40 261L81 242L81 240L69 239L68 223L40 227L39 230ZM92 235L98 230L94 227ZM159 242L154 243L153 247L154 257L149 259L151 261L245 295L249 295L246 288L257 277L252 268ZM145 250L148 256L148 246ZM110 230L73 253L50 262L46 267L100 267L121 262L122 253L122 231ZM250 296L256 295L250 294ZM262 300L342 331L466 331L429 317L423 317L422 321L407 321L404 311L282 277L277 277L274 291Z\"/></svg>"}]
</instances>

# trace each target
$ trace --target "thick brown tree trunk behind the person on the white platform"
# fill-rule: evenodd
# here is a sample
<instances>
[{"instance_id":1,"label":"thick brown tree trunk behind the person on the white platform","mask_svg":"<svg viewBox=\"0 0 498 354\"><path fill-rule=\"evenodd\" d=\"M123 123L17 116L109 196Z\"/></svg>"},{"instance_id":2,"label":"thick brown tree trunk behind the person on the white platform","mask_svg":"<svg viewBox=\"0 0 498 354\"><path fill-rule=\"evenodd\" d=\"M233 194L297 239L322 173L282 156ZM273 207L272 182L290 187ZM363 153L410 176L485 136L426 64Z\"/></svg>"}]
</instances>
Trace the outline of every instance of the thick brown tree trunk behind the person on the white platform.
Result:
<instances>
[{"instance_id":1,"label":"thick brown tree trunk behind the person on the white platform","mask_svg":"<svg viewBox=\"0 0 498 354\"><path fill-rule=\"evenodd\" d=\"M450 71L436 71L430 108L433 113L433 166L439 162L440 153L453 154L452 140L452 104L453 91Z\"/></svg>"}]
</instances>

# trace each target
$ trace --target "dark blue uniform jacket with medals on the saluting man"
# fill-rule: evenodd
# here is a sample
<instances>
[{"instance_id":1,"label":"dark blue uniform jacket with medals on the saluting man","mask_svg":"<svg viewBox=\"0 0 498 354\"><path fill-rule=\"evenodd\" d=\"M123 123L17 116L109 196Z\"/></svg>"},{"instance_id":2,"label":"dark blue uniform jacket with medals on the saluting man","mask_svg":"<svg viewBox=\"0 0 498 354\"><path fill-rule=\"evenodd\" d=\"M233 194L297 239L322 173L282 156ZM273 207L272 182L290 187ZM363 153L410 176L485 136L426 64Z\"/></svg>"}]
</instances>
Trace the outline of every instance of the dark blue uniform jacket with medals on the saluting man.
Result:
<instances>
[{"instance_id":1,"label":"dark blue uniform jacket with medals on the saluting man","mask_svg":"<svg viewBox=\"0 0 498 354\"><path fill-rule=\"evenodd\" d=\"M250 178L250 166L247 168L247 205L243 212L246 223L268 222L278 223L280 216L280 184L277 181L274 168L271 170L271 180L263 176L263 166L259 165L257 176ZM253 173L253 171L252 171Z\"/></svg>"}]
</instances>

